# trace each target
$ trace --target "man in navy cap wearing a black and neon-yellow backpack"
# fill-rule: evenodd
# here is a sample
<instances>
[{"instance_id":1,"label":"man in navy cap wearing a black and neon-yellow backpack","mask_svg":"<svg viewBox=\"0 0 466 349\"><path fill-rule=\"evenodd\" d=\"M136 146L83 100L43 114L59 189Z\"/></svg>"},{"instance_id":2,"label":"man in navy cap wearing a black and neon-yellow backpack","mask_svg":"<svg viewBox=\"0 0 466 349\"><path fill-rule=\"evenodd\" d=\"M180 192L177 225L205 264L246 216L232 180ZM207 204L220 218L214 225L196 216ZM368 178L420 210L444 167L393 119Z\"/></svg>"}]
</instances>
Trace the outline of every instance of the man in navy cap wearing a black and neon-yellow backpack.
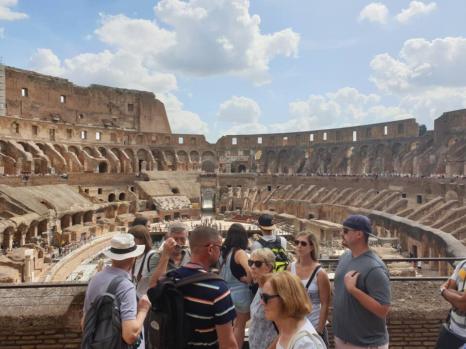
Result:
<instances>
[{"instance_id":1,"label":"man in navy cap wearing a black and neon-yellow backpack","mask_svg":"<svg viewBox=\"0 0 466 349\"><path fill-rule=\"evenodd\" d=\"M261 229L262 238L254 241L251 245L251 252L261 248L269 248L275 254L275 267L273 272L286 270L288 264L291 263L288 254L286 253L287 242L283 237L277 237L273 234L273 230L277 226L273 222L273 217L268 214L262 214L258 221Z\"/></svg>"}]
</instances>

